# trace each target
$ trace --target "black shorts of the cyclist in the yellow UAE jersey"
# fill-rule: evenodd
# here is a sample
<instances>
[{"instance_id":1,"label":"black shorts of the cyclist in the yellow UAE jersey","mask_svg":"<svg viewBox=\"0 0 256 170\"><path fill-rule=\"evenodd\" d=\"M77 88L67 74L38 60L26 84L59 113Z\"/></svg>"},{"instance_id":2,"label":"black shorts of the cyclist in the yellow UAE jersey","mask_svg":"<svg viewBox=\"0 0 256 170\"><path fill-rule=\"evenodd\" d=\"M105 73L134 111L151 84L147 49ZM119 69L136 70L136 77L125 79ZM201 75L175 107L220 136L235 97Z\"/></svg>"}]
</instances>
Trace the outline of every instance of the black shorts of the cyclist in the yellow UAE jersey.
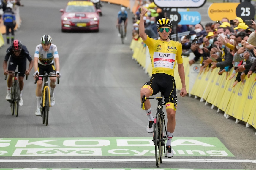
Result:
<instances>
[{"instance_id":1,"label":"black shorts of the cyclist in the yellow UAE jersey","mask_svg":"<svg viewBox=\"0 0 256 170\"><path fill-rule=\"evenodd\" d=\"M165 73L153 74L150 81L146 82L142 87L150 89L151 95L156 95L160 91L163 91L164 97L171 98L174 95L177 99L175 80L171 75ZM173 103L172 100L165 99L165 103L168 102Z\"/></svg>"}]
</instances>

